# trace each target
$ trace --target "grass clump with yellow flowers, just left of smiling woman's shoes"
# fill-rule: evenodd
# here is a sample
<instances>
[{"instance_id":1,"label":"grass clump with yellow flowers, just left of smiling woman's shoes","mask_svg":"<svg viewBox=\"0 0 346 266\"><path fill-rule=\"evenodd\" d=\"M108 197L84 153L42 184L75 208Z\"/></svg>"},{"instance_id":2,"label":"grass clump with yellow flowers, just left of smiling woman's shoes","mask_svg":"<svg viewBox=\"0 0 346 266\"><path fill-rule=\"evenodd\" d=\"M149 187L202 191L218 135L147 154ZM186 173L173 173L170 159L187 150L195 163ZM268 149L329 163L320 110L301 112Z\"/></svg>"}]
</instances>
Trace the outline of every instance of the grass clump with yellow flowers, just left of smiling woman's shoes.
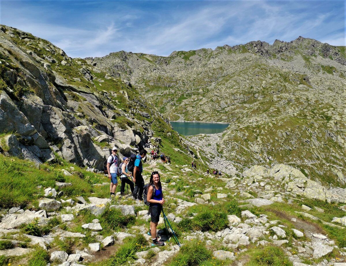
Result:
<instances>
[{"instance_id":1,"label":"grass clump with yellow flowers, just left of smiling woman's shoes","mask_svg":"<svg viewBox=\"0 0 346 266\"><path fill-rule=\"evenodd\" d=\"M146 248L147 240L143 235L128 237L124 239L124 244L120 246L117 253L107 260L106 265L122 265L138 259L136 253Z\"/></svg>"}]
</instances>

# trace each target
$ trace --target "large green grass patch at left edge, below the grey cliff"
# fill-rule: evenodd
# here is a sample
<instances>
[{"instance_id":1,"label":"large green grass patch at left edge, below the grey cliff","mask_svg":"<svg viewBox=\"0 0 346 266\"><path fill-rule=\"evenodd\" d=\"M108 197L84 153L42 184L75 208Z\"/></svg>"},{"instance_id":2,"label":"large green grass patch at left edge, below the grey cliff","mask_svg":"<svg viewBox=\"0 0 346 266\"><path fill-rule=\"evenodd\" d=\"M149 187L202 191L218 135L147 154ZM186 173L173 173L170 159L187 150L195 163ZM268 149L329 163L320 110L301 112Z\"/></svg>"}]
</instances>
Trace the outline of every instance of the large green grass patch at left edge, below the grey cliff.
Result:
<instances>
[{"instance_id":1,"label":"large green grass patch at left edge, below the grey cliff","mask_svg":"<svg viewBox=\"0 0 346 266\"><path fill-rule=\"evenodd\" d=\"M76 173L65 176L62 168L73 166ZM26 206L38 199L43 188L55 187L55 182L71 182L72 186L62 188L65 196L90 196L93 183L106 182L101 174L87 172L76 165L62 161L62 165L42 164L39 168L33 162L0 154L0 207ZM97 188L95 188L97 189Z\"/></svg>"}]
</instances>

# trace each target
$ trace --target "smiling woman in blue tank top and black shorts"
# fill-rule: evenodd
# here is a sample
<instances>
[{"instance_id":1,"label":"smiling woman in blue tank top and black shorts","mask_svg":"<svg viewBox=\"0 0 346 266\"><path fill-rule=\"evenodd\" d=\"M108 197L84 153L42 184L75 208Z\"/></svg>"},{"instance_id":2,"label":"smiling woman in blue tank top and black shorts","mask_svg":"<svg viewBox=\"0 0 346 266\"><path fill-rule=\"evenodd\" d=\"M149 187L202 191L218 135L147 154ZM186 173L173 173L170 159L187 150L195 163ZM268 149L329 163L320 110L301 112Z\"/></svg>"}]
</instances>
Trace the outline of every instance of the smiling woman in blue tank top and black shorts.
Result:
<instances>
[{"instance_id":1,"label":"smiling woman in blue tank top and black shorts","mask_svg":"<svg viewBox=\"0 0 346 266\"><path fill-rule=\"evenodd\" d=\"M154 192L154 188L155 188L155 192ZM162 205L165 203L165 200L163 198L163 193L162 193L160 174L157 171L152 172L150 176L147 201L150 203L149 205L149 213L151 216L150 233L153 239L153 244L156 246L163 246L164 243L162 241L157 240L156 238L156 227L157 227L158 221L160 220Z\"/></svg>"}]
</instances>

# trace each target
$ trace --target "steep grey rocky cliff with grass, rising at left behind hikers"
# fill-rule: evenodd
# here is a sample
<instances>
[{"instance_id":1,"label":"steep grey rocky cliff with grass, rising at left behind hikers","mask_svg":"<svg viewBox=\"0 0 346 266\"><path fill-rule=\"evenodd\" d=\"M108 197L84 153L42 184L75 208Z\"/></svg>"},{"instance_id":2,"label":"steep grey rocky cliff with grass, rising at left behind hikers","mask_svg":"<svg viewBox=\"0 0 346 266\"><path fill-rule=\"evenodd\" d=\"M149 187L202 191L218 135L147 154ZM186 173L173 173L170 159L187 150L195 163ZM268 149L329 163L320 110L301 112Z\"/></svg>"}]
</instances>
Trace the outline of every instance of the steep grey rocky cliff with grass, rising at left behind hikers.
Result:
<instances>
[{"instance_id":1,"label":"steep grey rocky cliff with grass, rising at left behind hikers","mask_svg":"<svg viewBox=\"0 0 346 266\"><path fill-rule=\"evenodd\" d=\"M127 156L152 147L153 123L161 123L158 134L172 131L128 82L27 32L0 27L0 61L5 154L100 170L113 145ZM180 145L173 131L165 136Z\"/></svg>"}]
</instances>

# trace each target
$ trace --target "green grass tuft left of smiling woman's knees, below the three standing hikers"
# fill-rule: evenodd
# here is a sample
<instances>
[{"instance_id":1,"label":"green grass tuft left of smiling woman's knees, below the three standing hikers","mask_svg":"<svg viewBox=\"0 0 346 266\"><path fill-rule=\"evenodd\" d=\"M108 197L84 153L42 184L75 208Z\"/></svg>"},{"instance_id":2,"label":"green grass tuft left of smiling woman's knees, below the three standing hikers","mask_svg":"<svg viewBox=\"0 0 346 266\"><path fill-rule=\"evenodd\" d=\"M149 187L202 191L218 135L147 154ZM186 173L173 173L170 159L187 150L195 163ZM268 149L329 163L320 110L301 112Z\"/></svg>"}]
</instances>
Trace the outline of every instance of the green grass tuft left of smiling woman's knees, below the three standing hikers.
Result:
<instances>
[{"instance_id":1,"label":"green grass tuft left of smiling woman's knees, below the three standing hikers","mask_svg":"<svg viewBox=\"0 0 346 266\"><path fill-rule=\"evenodd\" d=\"M123 215L119 209L108 209L98 218L102 228L108 230L124 228L136 220L132 215Z\"/></svg>"}]
</instances>

